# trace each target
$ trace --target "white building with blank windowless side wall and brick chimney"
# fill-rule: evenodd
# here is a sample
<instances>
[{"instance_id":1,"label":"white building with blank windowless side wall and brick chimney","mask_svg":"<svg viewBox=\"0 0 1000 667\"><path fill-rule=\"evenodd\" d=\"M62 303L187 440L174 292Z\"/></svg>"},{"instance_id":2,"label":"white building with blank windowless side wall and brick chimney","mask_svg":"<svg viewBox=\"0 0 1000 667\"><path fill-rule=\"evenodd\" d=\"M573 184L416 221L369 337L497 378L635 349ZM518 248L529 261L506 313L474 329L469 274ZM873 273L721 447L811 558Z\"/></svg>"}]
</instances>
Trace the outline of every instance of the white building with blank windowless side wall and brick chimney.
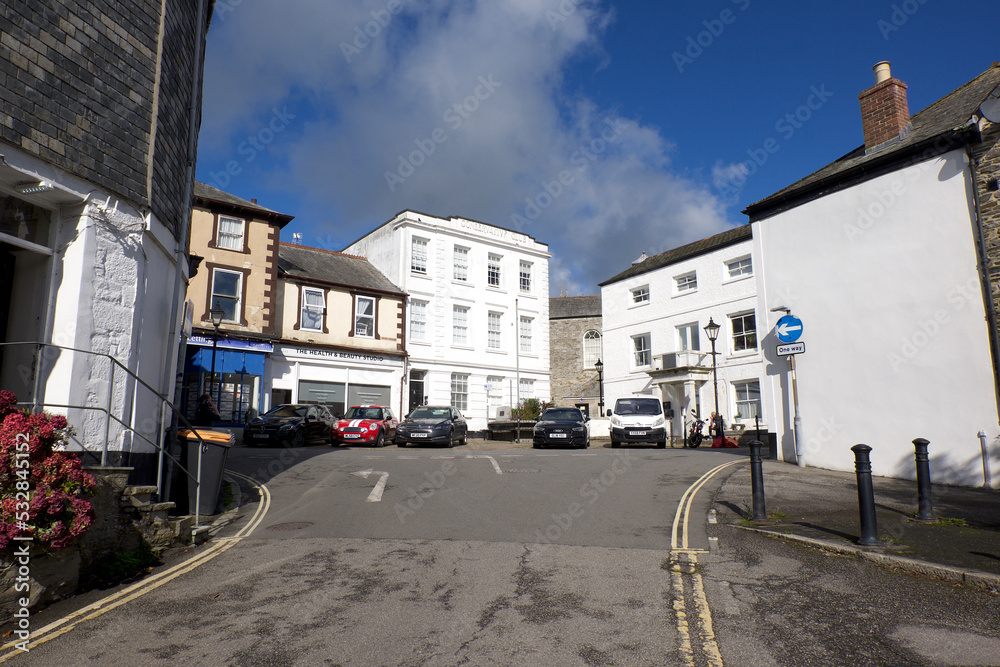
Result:
<instances>
[{"instance_id":1,"label":"white building with blank windowless side wall and brick chimney","mask_svg":"<svg viewBox=\"0 0 1000 667\"><path fill-rule=\"evenodd\" d=\"M876 475L914 477L911 443L926 438L935 482L978 486L979 431L1000 468L996 316L980 245L984 228L1000 226L1000 126L981 112L1000 96L1000 64L912 118L906 84L888 63L876 73L861 94L865 146L746 210L761 332L786 307L806 344L798 438L773 333L761 337L764 411L785 460L852 470L850 448L864 443Z\"/></svg>"}]
</instances>

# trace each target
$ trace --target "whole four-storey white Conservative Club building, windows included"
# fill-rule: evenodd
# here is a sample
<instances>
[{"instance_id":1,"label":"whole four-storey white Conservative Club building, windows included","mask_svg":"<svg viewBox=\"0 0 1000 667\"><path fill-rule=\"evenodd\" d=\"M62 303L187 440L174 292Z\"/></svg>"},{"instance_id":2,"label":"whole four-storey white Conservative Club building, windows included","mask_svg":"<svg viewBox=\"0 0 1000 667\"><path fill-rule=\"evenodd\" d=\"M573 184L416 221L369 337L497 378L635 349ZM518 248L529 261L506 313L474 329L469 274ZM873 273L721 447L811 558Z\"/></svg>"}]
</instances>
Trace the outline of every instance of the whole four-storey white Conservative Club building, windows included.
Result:
<instances>
[{"instance_id":1,"label":"whole four-storey white Conservative Club building, windows included","mask_svg":"<svg viewBox=\"0 0 1000 667\"><path fill-rule=\"evenodd\" d=\"M451 404L474 431L549 400L548 246L463 218L403 211L344 249L409 295L407 410Z\"/></svg>"}]
</instances>

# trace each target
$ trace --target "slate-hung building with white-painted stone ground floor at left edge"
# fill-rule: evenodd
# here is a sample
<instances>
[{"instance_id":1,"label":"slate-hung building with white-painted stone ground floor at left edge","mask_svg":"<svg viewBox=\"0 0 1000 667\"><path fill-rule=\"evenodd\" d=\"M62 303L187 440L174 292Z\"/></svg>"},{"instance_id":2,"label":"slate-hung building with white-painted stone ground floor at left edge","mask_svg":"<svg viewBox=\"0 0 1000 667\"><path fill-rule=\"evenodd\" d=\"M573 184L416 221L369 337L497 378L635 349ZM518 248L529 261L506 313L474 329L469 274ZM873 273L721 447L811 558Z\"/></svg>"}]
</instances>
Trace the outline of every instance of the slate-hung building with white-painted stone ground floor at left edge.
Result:
<instances>
[{"instance_id":1,"label":"slate-hung building with white-painted stone ground floor at left edge","mask_svg":"<svg viewBox=\"0 0 1000 667\"><path fill-rule=\"evenodd\" d=\"M176 378L212 6L5 3L0 383L145 483Z\"/></svg>"}]
</instances>

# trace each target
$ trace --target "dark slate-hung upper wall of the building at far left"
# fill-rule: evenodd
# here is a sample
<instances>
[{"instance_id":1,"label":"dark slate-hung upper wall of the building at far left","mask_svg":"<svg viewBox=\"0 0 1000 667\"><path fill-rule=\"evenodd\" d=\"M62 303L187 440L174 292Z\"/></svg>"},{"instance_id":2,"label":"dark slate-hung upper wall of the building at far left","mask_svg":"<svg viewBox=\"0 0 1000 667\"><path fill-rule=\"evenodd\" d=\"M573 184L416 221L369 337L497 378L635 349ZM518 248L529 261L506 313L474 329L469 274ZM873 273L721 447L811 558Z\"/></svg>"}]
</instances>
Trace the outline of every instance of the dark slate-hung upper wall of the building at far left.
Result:
<instances>
[{"instance_id":1,"label":"dark slate-hung upper wall of the building at far left","mask_svg":"<svg viewBox=\"0 0 1000 667\"><path fill-rule=\"evenodd\" d=\"M194 62L198 2L165 7L161 54L160 0L4 3L0 139L151 208L179 238L203 57Z\"/></svg>"}]
</instances>

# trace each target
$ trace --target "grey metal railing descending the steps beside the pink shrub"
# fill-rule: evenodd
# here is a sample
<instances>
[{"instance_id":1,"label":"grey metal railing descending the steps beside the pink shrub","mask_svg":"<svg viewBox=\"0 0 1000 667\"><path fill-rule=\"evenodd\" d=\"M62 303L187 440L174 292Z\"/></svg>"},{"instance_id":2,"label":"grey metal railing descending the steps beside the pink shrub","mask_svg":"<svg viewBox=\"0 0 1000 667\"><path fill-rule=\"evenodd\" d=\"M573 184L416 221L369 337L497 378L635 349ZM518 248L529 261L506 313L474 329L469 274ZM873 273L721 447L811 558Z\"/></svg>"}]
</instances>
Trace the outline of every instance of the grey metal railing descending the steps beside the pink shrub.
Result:
<instances>
[{"instance_id":1,"label":"grey metal railing descending the steps beside the pink shrub","mask_svg":"<svg viewBox=\"0 0 1000 667\"><path fill-rule=\"evenodd\" d=\"M205 450L206 445L205 445L205 441L202 439L201 435L199 435L198 432L196 430L194 430L194 427L187 420L187 418L184 417L184 414L181 412L181 410L177 406L175 406L169 399L167 399L165 396L163 396L162 394L160 394L156 389L154 389L152 386L150 386L145 380L143 380L142 378L140 378L138 375L136 375L134 372L132 372L129 368L127 368L126 366L124 366L120 361L118 361L117 359L115 359L110 354L106 354L106 353L103 353L103 352L94 352L92 350L81 350L79 348L68 347L68 346L65 346L65 345L56 345L54 343L42 343L42 342L39 342L39 341L33 341L33 342L15 342L15 343L0 343L0 349L3 349L4 351L6 351L6 349L8 347L12 347L12 346L29 346L29 345L35 348L34 349L34 353L33 353L33 358L32 358L32 365L31 365L31 373L33 375L33 379L32 379L32 387L33 387L33 389L32 389L32 396L31 396L32 400L31 401L18 401L17 405L25 406L25 407L30 406L32 412L35 412L35 413L41 412L45 408L57 408L57 409L65 409L65 410L91 410L91 411L103 413L104 414L104 438L103 438L103 442L101 444L101 465L102 466L107 466L108 465L108 445L109 445L109 440L110 440L111 423L112 423L112 421L115 422L116 424L118 424L119 426L121 426L124 429L123 435L124 435L125 432L131 433L132 438L133 438L133 442L135 441L134 439L136 437L138 437L139 439L141 439L141 440L149 443L153 447L155 447L156 451L158 452L157 469L156 469L156 493L157 493L157 496L162 498L162 491L163 491L163 466L164 466L164 456L166 456L171 461L173 461L173 463L185 475L187 475L187 477L189 479L194 480L194 483L195 483L195 521L194 521L194 530L198 531L198 529L201 528L201 526L199 525L199 523L201 521L201 462L202 462L202 454L203 454L203 452ZM90 357L101 357L101 358L106 359L109 362L110 369L111 369L109 377L107 379L108 380L108 391L107 391L108 396L107 396L106 406L103 406L103 405L63 405L63 404L59 404L59 403L47 403L47 402L44 402L42 400L42 375L43 375L43 372L44 372L43 368L42 368L42 362L43 362L42 357L44 356L43 352L46 349L48 349L48 348L56 349L56 350L59 350L59 351L62 351L62 352L73 352L73 353L77 353L77 354L88 355ZM7 359L6 355L4 355L4 357L5 357L4 358L5 362L9 363L10 361L12 361L11 359ZM129 378L129 379L131 379L131 380L133 380L135 382L135 388L131 392L131 394L132 394L132 396L131 396L132 400L129 401L129 408L128 408L129 414L127 415L128 416L128 420L129 420L128 422L126 422L124 419L118 417L115 414L115 410L114 410L114 407L115 407L115 404L114 404L115 391L114 391L114 389L115 389L115 371L116 371L116 369L120 369L120 372L123 372L125 374L125 378ZM156 436L157 439L156 439L156 441L153 441L153 440L149 439L143 433L141 433L140 431L138 431L131 423L129 423L129 422L134 422L134 418L135 418L135 405L136 405L136 400L138 398L137 392L138 392L138 388L140 386L143 387L143 388L145 388L145 389L147 389L153 395L153 397L155 397L155 399L157 401L159 401L159 406L158 406L158 410L157 410L158 411L158 415L159 415L159 421L156 423L156 433L157 433L157 436ZM195 471L195 474L191 474L191 472L187 468L185 468L181 464L181 462L178 459L176 459L169 451L167 451L166 447L164 446L165 443L163 442L163 437L164 437L164 435L166 433L166 429L164 428L164 425L165 425L165 422L166 422L165 416L166 416L166 410L167 409L169 409L170 413L171 413L171 421L170 421L171 428L170 428L170 432L171 433L175 432L176 429L175 429L174 425L177 422L181 422L185 428L191 429L191 432L194 434L194 437L198 441L198 465L197 465L197 469ZM124 409L122 410L122 412L124 412ZM123 415L123 417L124 416L125 415ZM90 450L88 450L86 446L84 446L84 451L87 452L87 453L93 454L93 452L91 452Z\"/></svg>"}]
</instances>

